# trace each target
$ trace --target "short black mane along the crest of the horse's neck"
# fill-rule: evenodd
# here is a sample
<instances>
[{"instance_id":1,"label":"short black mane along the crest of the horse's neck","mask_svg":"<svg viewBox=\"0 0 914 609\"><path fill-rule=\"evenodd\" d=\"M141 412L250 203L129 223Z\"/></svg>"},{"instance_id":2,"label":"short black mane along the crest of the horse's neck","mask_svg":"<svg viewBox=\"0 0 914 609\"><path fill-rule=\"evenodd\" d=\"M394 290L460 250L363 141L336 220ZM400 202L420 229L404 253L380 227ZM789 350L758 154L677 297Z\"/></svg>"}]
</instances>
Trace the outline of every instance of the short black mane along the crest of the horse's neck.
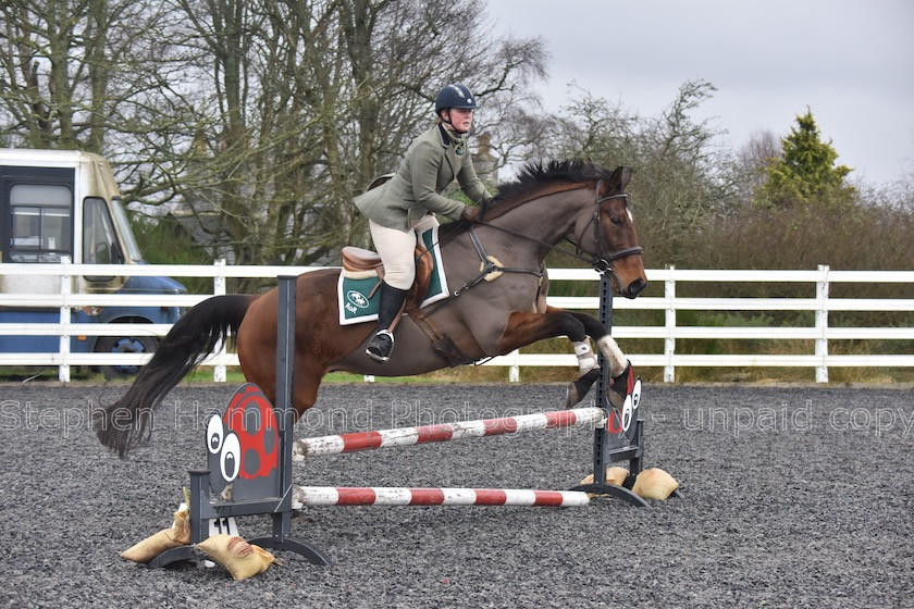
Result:
<instances>
[{"instance_id":1,"label":"short black mane along the crest of the horse's neck","mask_svg":"<svg viewBox=\"0 0 914 609\"><path fill-rule=\"evenodd\" d=\"M495 197L482 206L481 216L489 219L502 215L503 212L535 199L538 194L549 189L608 179L612 175L612 170L581 159L529 161L520 169L517 177L498 185ZM468 226L466 222L446 224L442 226L442 236L461 233Z\"/></svg>"}]
</instances>

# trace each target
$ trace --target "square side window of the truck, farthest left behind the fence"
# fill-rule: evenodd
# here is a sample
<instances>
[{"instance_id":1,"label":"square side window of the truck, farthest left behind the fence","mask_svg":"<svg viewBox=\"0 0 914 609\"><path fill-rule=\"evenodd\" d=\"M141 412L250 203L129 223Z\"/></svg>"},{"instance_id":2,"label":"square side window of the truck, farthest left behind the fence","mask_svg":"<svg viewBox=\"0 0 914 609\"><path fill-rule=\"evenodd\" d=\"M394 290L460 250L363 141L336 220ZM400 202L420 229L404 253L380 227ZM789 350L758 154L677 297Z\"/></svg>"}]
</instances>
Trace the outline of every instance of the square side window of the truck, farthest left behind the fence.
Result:
<instances>
[{"instance_id":1,"label":"square side window of the truck, farthest left behind the fence","mask_svg":"<svg viewBox=\"0 0 914 609\"><path fill-rule=\"evenodd\" d=\"M73 195L66 186L16 184L10 188L10 259L60 262L72 254Z\"/></svg>"}]
</instances>

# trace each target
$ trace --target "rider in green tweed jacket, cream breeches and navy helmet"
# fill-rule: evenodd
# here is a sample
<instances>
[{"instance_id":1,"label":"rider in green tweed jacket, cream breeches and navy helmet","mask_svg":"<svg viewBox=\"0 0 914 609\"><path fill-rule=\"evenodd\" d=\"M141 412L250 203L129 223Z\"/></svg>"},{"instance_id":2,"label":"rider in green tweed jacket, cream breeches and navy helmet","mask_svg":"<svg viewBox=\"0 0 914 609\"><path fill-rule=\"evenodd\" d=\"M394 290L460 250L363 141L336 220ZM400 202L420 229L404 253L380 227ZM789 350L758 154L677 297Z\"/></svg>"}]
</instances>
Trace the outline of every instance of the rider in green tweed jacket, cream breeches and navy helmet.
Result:
<instances>
[{"instance_id":1,"label":"rider in green tweed jacket, cream breeches and navy helmet","mask_svg":"<svg viewBox=\"0 0 914 609\"><path fill-rule=\"evenodd\" d=\"M441 89L435 98L434 126L410 144L388 182L355 199L356 207L368 216L371 238L384 263L378 332L366 349L376 362L391 359L394 350L392 330L416 278L413 252L418 235L439 225L435 213L469 222L479 214L479 208L448 199L441 192L456 178L475 203L491 198L477 176L467 147L475 108L475 98L464 85L452 84Z\"/></svg>"}]
</instances>

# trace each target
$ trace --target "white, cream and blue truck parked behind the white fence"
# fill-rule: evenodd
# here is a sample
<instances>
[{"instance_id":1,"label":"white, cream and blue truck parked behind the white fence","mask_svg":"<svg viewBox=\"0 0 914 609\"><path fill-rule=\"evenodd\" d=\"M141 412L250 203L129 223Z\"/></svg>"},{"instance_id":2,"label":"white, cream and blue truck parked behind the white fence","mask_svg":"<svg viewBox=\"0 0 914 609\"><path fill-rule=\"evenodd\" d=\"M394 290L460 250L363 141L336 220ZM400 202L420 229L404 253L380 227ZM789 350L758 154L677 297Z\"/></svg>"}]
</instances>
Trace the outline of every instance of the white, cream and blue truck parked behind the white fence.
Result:
<instances>
[{"instance_id":1,"label":"white, cream and blue truck parked behind the white fence","mask_svg":"<svg viewBox=\"0 0 914 609\"><path fill-rule=\"evenodd\" d=\"M0 263L143 264L114 175L98 154L69 150L0 149ZM0 272L0 323L59 323L60 309L3 302L7 294L60 294L55 276ZM76 276L74 294L186 294L171 277ZM73 323L174 323L177 307L74 310ZM75 336L71 352L147 352L150 336ZM58 336L0 335L0 352L57 352ZM108 377L135 366L104 366Z\"/></svg>"}]
</instances>

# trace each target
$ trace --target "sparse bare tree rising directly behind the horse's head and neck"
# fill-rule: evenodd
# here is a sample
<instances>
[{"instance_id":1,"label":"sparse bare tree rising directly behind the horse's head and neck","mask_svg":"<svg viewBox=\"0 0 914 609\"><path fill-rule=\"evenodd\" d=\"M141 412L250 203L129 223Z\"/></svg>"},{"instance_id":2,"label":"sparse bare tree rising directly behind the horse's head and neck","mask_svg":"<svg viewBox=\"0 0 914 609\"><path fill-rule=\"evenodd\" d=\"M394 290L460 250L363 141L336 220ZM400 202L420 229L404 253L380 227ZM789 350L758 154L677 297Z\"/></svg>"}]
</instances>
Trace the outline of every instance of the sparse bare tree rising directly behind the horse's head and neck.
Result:
<instances>
[{"instance_id":1,"label":"sparse bare tree rising directly behind the horse's head and neck","mask_svg":"<svg viewBox=\"0 0 914 609\"><path fill-rule=\"evenodd\" d=\"M719 144L722 132L693 117L714 90L704 80L685 82L654 117L584 91L564 115L565 156L635 170L630 190L653 263L677 260L701 241L708 221L734 204L739 183L729 150Z\"/></svg>"}]
</instances>

